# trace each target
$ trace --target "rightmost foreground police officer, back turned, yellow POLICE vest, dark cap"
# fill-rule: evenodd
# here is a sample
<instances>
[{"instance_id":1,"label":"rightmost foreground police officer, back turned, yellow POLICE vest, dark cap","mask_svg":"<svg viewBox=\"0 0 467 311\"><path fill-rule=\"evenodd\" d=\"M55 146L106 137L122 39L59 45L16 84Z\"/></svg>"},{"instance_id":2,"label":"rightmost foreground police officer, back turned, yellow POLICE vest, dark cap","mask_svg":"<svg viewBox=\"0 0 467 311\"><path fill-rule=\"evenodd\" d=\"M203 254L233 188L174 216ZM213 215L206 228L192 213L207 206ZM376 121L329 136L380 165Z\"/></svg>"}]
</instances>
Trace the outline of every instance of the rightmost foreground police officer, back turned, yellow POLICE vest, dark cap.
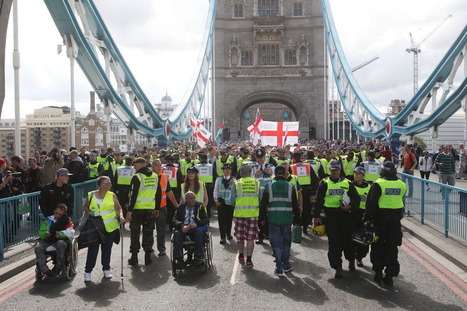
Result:
<instances>
[{"instance_id":1,"label":"rightmost foreground police officer, back turned, yellow POLICE vest, dark cap","mask_svg":"<svg viewBox=\"0 0 467 311\"><path fill-rule=\"evenodd\" d=\"M381 178L370 188L365 205L365 220L369 220L378 229L378 242L372 244L370 260L375 271L375 281L393 286L393 277L399 274L400 265L397 261L397 246L402 245L403 197L407 186L397 178L397 169L391 161L382 165ZM386 267L383 278L382 271Z\"/></svg>"}]
</instances>

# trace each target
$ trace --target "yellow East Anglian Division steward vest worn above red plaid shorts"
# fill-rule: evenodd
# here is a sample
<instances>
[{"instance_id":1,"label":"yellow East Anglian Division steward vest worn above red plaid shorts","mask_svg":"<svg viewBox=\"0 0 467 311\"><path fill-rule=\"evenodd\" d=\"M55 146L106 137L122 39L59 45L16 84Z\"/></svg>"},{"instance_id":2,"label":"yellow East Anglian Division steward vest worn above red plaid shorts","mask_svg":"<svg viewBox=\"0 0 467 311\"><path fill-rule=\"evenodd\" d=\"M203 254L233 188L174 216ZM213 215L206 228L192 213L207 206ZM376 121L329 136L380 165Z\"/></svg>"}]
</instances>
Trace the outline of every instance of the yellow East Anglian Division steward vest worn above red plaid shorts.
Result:
<instances>
[{"instance_id":1,"label":"yellow East Anglian Division steward vest worn above red plaid shorts","mask_svg":"<svg viewBox=\"0 0 467 311\"><path fill-rule=\"evenodd\" d=\"M234 217L252 218L259 216L259 181L243 177L235 181L236 198Z\"/></svg>"}]
</instances>

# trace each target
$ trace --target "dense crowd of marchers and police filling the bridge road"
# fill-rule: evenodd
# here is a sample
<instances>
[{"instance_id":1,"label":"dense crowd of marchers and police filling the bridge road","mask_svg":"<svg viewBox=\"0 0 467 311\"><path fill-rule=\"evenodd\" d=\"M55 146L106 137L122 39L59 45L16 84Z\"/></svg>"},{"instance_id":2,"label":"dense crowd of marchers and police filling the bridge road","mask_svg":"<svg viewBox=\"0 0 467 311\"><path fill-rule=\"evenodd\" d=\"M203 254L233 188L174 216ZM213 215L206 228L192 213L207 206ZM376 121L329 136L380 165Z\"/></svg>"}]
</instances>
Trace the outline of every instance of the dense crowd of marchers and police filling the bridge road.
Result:
<instances>
[{"instance_id":1,"label":"dense crowd of marchers and police filling the bridge road","mask_svg":"<svg viewBox=\"0 0 467 311\"><path fill-rule=\"evenodd\" d=\"M356 264L363 266L369 252L367 245L352 241L352 234L377 225L379 241L370 254L374 279L392 285L399 271L402 197L406 191L408 197L413 192L410 183L406 187L397 178L395 163L401 163L403 173L413 175L419 167L422 178L435 172L440 182L454 185L466 167L467 150L463 144L459 147L458 153L452 145L440 146L432 158L420 145L413 149L401 144L399 150L392 150L376 141L312 140L294 146L253 146L245 141L203 148L188 143L133 149L128 155L106 147L89 151L82 147L79 152L52 148L35 150L27 165L16 155L0 159L0 198L41 191L39 206L29 205L29 221L40 225L42 245L36 254L41 254L45 244L55 243L61 250L60 241L70 242L69 222L77 220L73 219L74 196L83 196L85 212L106 220L108 242L100 245L106 278L112 277L110 254L112 242L118 241L118 223L125 220L131 231L128 264L139 263L141 248L144 264L152 263L154 230L158 255L164 256L165 234L173 230L175 264L183 267L187 262L180 242L187 236L195 241L193 260L201 262L202 233L216 210L219 243L235 237L238 261L252 267L254 245L269 239L277 276L292 271L292 225L301 226L307 235L310 226L325 223L328 259L336 278L343 276L342 253L354 271ZM98 190L73 192L72 184L90 179L98 180ZM11 223L3 226L6 241L14 238L21 220L15 203L10 213ZM42 217L46 221L41 225ZM88 250L85 281L91 279L98 249ZM56 268L49 270L40 256L44 275L60 274L58 260Z\"/></svg>"}]
</instances>

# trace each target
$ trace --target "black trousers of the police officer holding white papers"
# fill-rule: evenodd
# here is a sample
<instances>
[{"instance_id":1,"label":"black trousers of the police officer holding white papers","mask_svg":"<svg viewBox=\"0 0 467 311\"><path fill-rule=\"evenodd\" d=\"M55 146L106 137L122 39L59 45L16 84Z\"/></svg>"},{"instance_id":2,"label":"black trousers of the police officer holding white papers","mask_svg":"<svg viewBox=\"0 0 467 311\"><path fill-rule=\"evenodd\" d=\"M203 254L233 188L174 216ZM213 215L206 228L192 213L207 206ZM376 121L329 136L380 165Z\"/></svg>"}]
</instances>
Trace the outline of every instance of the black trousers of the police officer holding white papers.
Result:
<instances>
[{"instance_id":1,"label":"black trousers of the police officer holding white papers","mask_svg":"<svg viewBox=\"0 0 467 311\"><path fill-rule=\"evenodd\" d=\"M333 269L342 267L342 252L347 260L355 259L355 243L351 240L353 219L348 211L326 208L327 258Z\"/></svg>"}]
</instances>

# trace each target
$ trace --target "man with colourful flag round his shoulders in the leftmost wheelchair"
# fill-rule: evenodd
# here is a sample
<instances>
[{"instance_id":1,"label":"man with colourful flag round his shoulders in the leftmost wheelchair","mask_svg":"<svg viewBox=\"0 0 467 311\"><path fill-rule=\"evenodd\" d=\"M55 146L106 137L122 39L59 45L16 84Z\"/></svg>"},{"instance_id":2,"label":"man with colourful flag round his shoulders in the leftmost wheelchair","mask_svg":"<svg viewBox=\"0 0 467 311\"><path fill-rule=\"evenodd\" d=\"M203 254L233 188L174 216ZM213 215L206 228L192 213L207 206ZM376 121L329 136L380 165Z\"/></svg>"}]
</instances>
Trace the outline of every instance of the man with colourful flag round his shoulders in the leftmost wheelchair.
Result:
<instances>
[{"instance_id":1,"label":"man with colourful flag round his shoulders in the leftmost wheelchair","mask_svg":"<svg viewBox=\"0 0 467 311\"><path fill-rule=\"evenodd\" d=\"M40 271L46 276L58 276L63 268L63 257L69 243L74 238L74 229L71 218L67 216L67 206L63 203L57 205L54 215L49 216L39 229L40 242L35 247L36 261ZM47 247L56 249L56 264L53 270L47 266Z\"/></svg>"}]
</instances>

